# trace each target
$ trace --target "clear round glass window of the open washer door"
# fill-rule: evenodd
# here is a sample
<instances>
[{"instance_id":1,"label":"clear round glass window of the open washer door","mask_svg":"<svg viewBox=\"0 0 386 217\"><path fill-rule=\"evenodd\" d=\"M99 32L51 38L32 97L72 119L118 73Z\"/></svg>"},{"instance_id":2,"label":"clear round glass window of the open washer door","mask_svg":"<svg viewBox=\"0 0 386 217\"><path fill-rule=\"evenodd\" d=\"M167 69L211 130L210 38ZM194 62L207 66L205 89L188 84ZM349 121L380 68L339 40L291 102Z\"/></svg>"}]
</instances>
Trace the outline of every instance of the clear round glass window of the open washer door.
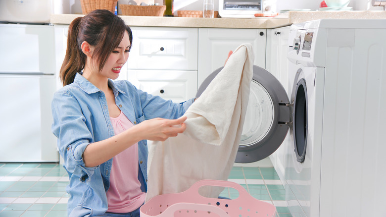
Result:
<instances>
[{"instance_id":1,"label":"clear round glass window of the open washer door","mask_svg":"<svg viewBox=\"0 0 386 217\"><path fill-rule=\"evenodd\" d=\"M263 139L272 127L274 115L268 91L252 80L240 146L250 146Z\"/></svg>"}]
</instances>

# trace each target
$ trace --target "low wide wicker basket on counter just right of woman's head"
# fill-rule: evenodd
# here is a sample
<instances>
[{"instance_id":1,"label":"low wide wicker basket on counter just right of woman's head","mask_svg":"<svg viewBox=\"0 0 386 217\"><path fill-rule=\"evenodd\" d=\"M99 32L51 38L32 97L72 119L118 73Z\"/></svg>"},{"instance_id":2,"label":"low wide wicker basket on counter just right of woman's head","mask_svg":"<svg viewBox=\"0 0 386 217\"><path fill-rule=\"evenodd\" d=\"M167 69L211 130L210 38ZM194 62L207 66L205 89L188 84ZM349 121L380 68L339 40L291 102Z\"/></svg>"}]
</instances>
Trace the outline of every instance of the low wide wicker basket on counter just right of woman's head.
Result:
<instances>
[{"instance_id":1,"label":"low wide wicker basket on counter just right of woman's head","mask_svg":"<svg viewBox=\"0 0 386 217\"><path fill-rule=\"evenodd\" d=\"M165 5L131 5L131 4L119 4L122 10L122 15L127 16L163 16L166 6Z\"/></svg>"}]
</instances>

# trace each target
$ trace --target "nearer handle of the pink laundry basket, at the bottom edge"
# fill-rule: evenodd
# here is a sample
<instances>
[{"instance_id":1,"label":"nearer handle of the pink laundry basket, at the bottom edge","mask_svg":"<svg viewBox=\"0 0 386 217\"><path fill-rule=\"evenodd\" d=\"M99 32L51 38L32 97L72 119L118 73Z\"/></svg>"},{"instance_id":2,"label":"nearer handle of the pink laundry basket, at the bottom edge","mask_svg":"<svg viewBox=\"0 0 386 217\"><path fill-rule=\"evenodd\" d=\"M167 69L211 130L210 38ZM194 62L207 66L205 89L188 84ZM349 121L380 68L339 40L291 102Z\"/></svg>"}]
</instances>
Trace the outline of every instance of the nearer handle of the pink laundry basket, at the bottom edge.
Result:
<instances>
[{"instance_id":1,"label":"nearer handle of the pink laundry basket, at the bottom edge","mask_svg":"<svg viewBox=\"0 0 386 217\"><path fill-rule=\"evenodd\" d=\"M194 211L206 211L217 214L219 217L230 217L224 210L206 204L193 204L193 203L176 203L166 209L162 216L173 217L174 214L179 210L194 210Z\"/></svg>"}]
</instances>

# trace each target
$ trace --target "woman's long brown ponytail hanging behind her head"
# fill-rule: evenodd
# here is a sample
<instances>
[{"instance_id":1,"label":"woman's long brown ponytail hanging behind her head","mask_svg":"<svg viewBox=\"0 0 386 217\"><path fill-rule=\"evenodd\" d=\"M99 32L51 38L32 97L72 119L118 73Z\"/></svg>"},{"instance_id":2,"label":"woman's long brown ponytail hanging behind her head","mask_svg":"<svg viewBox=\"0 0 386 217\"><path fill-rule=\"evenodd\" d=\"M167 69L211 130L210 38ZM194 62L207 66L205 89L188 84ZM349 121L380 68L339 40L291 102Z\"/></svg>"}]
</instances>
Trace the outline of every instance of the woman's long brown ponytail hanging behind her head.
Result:
<instances>
[{"instance_id":1,"label":"woman's long brown ponytail hanging behind her head","mask_svg":"<svg viewBox=\"0 0 386 217\"><path fill-rule=\"evenodd\" d=\"M84 54L78 45L77 38L82 17L75 18L68 28L67 51L60 68L60 79L63 86L74 82L76 73L83 70L86 61Z\"/></svg>"}]
</instances>

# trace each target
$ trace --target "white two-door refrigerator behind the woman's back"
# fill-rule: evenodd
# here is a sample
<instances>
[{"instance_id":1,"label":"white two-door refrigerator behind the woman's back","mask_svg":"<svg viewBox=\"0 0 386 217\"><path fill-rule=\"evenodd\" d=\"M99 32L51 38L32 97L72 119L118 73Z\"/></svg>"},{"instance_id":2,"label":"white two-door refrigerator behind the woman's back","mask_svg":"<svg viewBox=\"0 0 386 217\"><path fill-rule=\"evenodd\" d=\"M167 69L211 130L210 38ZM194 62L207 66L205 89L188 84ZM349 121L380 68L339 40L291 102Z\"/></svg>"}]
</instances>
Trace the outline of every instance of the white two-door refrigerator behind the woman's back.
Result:
<instances>
[{"instance_id":1,"label":"white two-door refrigerator behind the woman's back","mask_svg":"<svg viewBox=\"0 0 386 217\"><path fill-rule=\"evenodd\" d=\"M51 133L54 30L0 24L0 162L58 162Z\"/></svg>"}]
</instances>

